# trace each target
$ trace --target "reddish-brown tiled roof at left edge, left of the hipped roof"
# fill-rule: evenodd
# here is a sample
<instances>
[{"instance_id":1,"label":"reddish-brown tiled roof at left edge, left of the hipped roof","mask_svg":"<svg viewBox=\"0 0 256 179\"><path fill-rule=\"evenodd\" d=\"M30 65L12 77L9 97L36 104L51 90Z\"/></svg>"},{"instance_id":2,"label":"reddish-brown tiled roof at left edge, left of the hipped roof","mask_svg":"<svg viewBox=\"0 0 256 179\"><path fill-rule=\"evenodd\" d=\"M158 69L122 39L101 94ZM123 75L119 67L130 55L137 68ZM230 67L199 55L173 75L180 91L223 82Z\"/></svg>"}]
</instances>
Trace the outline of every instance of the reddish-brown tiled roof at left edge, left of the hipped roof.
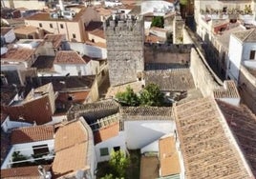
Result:
<instances>
[{"instance_id":1,"label":"reddish-brown tiled roof at left edge, left of the hipped roof","mask_svg":"<svg viewBox=\"0 0 256 179\"><path fill-rule=\"evenodd\" d=\"M12 48L8 50L7 53L1 55L3 60L14 60L14 61L27 61L34 54L35 50L25 49L25 48Z\"/></svg>"}]
</instances>

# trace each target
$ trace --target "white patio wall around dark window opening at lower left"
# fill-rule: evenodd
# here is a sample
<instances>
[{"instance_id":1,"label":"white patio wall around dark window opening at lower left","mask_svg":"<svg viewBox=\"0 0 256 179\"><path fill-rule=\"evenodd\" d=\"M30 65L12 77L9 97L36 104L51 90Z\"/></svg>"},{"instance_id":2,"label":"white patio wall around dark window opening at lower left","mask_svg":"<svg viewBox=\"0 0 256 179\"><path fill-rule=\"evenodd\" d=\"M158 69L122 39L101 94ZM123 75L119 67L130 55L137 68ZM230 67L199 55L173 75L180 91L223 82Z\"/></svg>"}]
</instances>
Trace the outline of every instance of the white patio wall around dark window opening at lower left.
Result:
<instances>
[{"instance_id":1,"label":"white patio wall around dark window opening at lower left","mask_svg":"<svg viewBox=\"0 0 256 179\"><path fill-rule=\"evenodd\" d=\"M32 147L39 146L39 145L48 145L48 149L49 149L49 151L51 151L54 149L54 140L51 139L51 140L45 140L45 141L13 145L10 152L8 153L8 156L6 157L3 165L1 166L1 169L8 169L11 167L9 164L12 161L11 155L14 151L20 151L20 154L25 155L27 157L31 157L31 155L33 154Z\"/></svg>"}]
</instances>

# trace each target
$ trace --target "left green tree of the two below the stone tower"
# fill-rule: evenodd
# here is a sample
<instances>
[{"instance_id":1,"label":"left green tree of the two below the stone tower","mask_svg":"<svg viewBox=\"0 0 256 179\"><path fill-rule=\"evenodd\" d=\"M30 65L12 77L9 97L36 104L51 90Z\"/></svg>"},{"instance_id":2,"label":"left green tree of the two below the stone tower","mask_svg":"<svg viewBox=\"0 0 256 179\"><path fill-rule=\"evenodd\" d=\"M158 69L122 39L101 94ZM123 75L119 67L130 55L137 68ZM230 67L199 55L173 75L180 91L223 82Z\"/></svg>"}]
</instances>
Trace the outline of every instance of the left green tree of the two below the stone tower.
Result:
<instances>
[{"instance_id":1,"label":"left green tree of the two below the stone tower","mask_svg":"<svg viewBox=\"0 0 256 179\"><path fill-rule=\"evenodd\" d=\"M124 92L117 92L116 98L122 106L139 106L139 97L130 86Z\"/></svg>"}]
</instances>

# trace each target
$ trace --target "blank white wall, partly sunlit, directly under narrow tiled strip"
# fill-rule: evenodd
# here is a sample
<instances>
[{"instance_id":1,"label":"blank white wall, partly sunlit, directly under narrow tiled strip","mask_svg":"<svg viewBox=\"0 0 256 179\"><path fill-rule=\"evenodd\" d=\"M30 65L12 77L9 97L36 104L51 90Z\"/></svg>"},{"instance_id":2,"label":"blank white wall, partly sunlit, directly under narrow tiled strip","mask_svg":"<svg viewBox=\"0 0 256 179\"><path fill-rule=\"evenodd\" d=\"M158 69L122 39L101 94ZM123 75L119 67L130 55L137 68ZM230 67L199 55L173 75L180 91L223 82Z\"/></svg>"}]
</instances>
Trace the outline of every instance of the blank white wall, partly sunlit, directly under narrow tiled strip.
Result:
<instances>
[{"instance_id":1,"label":"blank white wall, partly sunlit, directly under narrow tiled strip","mask_svg":"<svg viewBox=\"0 0 256 179\"><path fill-rule=\"evenodd\" d=\"M162 135L173 132L174 121L125 121L124 131L127 149L141 149Z\"/></svg>"}]
</instances>

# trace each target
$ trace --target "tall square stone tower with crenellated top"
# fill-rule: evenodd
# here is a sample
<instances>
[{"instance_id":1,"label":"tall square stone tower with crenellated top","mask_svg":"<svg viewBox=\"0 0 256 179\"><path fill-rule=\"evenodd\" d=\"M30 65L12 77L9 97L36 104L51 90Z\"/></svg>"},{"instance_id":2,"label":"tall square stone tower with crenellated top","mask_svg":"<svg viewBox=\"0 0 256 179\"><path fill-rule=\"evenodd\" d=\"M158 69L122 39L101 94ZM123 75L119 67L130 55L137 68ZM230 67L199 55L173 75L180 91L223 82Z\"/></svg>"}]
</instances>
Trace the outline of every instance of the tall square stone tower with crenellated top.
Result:
<instances>
[{"instance_id":1,"label":"tall square stone tower with crenellated top","mask_svg":"<svg viewBox=\"0 0 256 179\"><path fill-rule=\"evenodd\" d=\"M112 15L104 21L110 85L138 79L144 70L144 29L142 16Z\"/></svg>"}]
</instances>

